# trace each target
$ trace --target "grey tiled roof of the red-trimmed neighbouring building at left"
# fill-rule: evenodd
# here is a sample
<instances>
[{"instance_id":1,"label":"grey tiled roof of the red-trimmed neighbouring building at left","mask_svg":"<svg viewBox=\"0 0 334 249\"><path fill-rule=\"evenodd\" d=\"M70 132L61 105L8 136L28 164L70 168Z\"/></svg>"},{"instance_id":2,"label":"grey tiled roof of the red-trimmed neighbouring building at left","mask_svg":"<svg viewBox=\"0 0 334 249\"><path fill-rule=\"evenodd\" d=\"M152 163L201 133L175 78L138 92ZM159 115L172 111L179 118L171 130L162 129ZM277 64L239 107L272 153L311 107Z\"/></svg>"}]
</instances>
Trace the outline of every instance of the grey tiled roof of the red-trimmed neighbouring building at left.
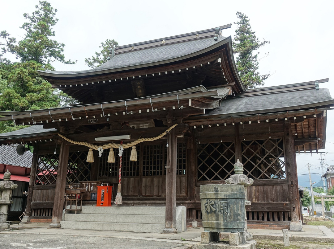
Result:
<instances>
[{"instance_id":1,"label":"grey tiled roof of the red-trimmed neighbouring building at left","mask_svg":"<svg viewBox=\"0 0 334 249\"><path fill-rule=\"evenodd\" d=\"M23 155L16 153L17 144L0 146L0 164L7 164L21 167L31 167L32 153L24 152Z\"/></svg>"}]
</instances>

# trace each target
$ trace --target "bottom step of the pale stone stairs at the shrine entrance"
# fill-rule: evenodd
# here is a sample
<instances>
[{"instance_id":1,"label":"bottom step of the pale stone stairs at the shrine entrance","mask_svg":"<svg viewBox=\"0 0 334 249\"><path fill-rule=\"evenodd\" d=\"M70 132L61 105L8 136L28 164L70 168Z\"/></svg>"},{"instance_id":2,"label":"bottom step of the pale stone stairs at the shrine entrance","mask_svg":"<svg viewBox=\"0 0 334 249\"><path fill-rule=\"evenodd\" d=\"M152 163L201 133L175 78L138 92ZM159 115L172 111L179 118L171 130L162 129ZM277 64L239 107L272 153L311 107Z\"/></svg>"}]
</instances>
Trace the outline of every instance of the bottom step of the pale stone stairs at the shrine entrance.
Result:
<instances>
[{"instance_id":1,"label":"bottom step of the pale stone stairs at the shrine entrance","mask_svg":"<svg viewBox=\"0 0 334 249\"><path fill-rule=\"evenodd\" d=\"M60 221L62 229L161 233L165 224Z\"/></svg>"}]
</instances>

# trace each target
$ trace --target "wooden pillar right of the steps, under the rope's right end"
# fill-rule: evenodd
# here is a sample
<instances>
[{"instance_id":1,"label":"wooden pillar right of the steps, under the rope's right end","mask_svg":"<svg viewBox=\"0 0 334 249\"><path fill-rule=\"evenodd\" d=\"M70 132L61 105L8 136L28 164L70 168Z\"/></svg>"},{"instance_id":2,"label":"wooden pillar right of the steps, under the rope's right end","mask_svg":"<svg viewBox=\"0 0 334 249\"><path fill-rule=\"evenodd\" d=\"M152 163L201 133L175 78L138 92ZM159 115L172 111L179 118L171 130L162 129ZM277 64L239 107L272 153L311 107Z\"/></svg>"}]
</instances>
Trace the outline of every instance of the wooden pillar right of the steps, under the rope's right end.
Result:
<instances>
[{"instance_id":1,"label":"wooden pillar right of the steps, under the rope's right end","mask_svg":"<svg viewBox=\"0 0 334 249\"><path fill-rule=\"evenodd\" d=\"M175 129L167 133L167 170L166 170L166 225L164 233L176 233L176 153Z\"/></svg>"}]
</instances>

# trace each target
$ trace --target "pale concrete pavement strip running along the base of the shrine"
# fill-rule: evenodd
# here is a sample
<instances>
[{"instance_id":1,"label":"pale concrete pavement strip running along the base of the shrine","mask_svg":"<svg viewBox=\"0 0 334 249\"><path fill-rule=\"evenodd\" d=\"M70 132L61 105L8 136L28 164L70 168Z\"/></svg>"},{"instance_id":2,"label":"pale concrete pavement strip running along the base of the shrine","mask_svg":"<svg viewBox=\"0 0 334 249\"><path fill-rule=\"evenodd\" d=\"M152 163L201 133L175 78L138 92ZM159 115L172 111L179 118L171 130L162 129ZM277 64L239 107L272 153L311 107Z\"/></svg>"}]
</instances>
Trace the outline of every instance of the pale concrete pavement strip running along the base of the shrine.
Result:
<instances>
[{"instance_id":1,"label":"pale concrete pavement strip running along the base of the shrine","mask_svg":"<svg viewBox=\"0 0 334 249\"><path fill-rule=\"evenodd\" d=\"M314 241L334 243L334 233L325 226L303 225L302 231L289 231L290 241ZM136 240L149 240L157 242L174 242L182 247L191 248L191 244L200 243L203 228L188 228L187 231L178 234L101 231L81 229L50 228L48 223L27 223L10 225L10 229L0 231L1 234L43 234L43 235L72 235L95 236L105 238L125 238ZM283 241L282 230L248 229L254 239L270 239ZM188 245L188 246L186 246ZM174 247L171 247L174 248Z\"/></svg>"}]
</instances>

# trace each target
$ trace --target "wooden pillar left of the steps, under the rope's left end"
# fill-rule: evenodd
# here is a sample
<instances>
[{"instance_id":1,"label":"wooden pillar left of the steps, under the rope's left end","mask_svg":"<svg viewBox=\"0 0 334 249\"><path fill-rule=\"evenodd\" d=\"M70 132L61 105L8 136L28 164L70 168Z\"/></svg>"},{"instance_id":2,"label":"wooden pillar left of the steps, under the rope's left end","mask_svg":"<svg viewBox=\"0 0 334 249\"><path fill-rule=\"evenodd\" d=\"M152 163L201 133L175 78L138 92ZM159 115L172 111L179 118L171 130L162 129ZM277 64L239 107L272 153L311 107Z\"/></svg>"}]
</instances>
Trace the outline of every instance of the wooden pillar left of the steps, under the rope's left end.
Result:
<instances>
[{"instance_id":1,"label":"wooden pillar left of the steps, under the rope's left end","mask_svg":"<svg viewBox=\"0 0 334 249\"><path fill-rule=\"evenodd\" d=\"M60 227L60 221L62 217L62 210L64 207L64 195L65 195L65 185L66 185L66 172L68 164L68 152L69 145L62 139L60 145L59 162L57 170L57 180L56 189L54 193L54 202L52 210L52 221L50 227L58 228Z\"/></svg>"}]
</instances>

